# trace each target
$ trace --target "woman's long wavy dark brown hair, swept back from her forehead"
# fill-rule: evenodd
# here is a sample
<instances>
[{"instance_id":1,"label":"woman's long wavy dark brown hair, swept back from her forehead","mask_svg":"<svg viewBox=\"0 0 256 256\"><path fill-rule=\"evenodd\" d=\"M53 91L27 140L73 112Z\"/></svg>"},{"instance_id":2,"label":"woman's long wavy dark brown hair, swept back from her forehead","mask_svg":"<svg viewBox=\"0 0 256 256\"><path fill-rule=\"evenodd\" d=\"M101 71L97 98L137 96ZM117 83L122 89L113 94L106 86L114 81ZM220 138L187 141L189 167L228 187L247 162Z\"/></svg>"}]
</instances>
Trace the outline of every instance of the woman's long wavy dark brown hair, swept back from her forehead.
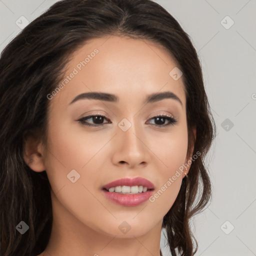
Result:
<instances>
[{"instance_id":1,"label":"woman's long wavy dark brown hair, swept back from her forehead","mask_svg":"<svg viewBox=\"0 0 256 256\"><path fill-rule=\"evenodd\" d=\"M45 171L23 159L25 134L44 137L50 93L62 80L70 56L88 39L105 35L145 39L163 46L178 63L186 94L188 150L201 154L182 179L177 198L163 218L172 255L194 255L189 218L211 199L204 157L215 123L204 90L196 50L178 22L151 0L62 0L30 22L0 56L0 255L37 255L52 224L50 184ZM196 139L192 128L196 127ZM16 225L29 229L21 235ZM195 240L195 239L194 239Z\"/></svg>"}]
</instances>

